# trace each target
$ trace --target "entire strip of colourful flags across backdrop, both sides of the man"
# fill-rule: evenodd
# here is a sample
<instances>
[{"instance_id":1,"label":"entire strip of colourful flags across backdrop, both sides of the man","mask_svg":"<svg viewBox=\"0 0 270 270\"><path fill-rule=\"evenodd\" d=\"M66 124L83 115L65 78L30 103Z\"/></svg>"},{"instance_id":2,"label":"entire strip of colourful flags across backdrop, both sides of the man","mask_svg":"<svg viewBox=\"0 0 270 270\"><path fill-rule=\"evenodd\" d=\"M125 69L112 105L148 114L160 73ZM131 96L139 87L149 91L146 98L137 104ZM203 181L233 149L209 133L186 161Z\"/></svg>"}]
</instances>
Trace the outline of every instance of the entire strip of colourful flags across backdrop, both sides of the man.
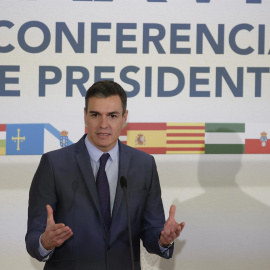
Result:
<instances>
[{"instance_id":1,"label":"entire strip of colourful flags across backdrop, both sides of the man","mask_svg":"<svg viewBox=\"0 0 270 270\"><path fill-rule=\"evenodd\" d=\"M149 154L270 154L268 134L270 123L128 123L119 139ZM72 143L51 124L0 124L0 155L42 155Z\"/></svg>"}]
</instances>

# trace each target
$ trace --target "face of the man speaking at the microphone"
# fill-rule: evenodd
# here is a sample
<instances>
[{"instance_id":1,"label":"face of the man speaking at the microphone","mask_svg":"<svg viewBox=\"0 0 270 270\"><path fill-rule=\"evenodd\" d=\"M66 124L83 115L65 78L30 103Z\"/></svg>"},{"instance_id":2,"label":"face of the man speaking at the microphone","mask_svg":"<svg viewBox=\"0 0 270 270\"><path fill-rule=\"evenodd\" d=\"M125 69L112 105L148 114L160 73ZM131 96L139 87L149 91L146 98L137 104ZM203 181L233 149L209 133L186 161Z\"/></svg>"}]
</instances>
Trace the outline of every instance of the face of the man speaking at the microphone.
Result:
<instances>
[{"instance_id":1,"label":"face of the man speaking at the microphone","mask_svg":"<svg viewBox=\"0 0 270 270\"><path fill-rule=\"evenodd\" d=\"M110 151L116 144L127 120L123 115L118 95L107 98L90 97L84 120L88 128L88 140L102 152Z\"/></svg>"}]
</instances>

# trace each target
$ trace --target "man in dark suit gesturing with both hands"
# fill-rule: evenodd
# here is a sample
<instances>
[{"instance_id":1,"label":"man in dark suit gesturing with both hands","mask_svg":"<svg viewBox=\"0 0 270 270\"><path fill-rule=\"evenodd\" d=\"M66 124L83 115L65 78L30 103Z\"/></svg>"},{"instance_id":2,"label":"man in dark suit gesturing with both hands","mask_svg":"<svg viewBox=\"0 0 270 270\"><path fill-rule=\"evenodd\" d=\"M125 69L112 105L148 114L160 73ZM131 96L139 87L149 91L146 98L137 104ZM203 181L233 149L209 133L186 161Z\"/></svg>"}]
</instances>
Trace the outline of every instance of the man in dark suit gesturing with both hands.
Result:
<instances>
[{"instance_id":1,"label":"man in dark suit gesturing with both hands","mask_svg":"<svg viewBox=\"0 0 270 270\"><path fill-rule=\"evenodd\" d=\"M175 206L165 223L154 158L118 140L126 103L117 83L93 84L85 97L88 134L41 158L29 193L26 247L46 261L44 269L131 268L121 176L127 179L135 269L141 269L140 239L148 252L172 256L184 223L175 221Z\"/></svg>"}]
</instances>

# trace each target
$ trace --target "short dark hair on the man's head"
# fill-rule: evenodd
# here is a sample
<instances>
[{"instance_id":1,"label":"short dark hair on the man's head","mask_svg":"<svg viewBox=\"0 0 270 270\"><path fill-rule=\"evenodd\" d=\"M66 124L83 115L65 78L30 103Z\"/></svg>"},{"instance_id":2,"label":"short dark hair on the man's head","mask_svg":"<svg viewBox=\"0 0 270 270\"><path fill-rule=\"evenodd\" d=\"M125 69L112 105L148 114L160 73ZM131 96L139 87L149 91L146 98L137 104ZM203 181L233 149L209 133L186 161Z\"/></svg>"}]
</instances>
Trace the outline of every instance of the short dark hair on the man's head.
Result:
<instances>
[{"instance_id":1,"label":"short dark hair on the man's head","mask_svg":"<svg viewBox=\"0 0 270 270\"><path fill-rule=\"evenodd\" d=\"M119 96L122 103L123 115L127 109L127 94L118 83L113 81L95 82L86 92L85 110L87 112L88 100L90 97L106 98L110 96Z\"/></svg>"}]
</instances>

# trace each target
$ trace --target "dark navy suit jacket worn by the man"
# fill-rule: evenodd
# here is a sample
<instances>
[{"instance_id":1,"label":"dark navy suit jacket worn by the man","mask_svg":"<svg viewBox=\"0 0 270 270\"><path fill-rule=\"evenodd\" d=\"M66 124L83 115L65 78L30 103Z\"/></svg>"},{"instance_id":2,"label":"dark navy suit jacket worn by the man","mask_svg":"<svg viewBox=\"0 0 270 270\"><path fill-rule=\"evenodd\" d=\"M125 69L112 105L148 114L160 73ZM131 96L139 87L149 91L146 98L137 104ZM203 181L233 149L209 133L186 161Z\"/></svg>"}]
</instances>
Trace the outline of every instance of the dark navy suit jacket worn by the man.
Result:
<instances>
[{"instance_id":1,"label":"dark navy suit jacket worn by the man","mask_svg":"<svg viewBox=\"0 0 270 270\"><path fill-rule=\"evenodd\" d=\"M57 247L44 269L127 270L131 268L124 193L118 181L110 231L103 222L95 179L85 146L85 135L69 147L44 154L29 193L26 247L42 260L39 237L45 231L46 204L56 223L73 236ZM140 268L140 239L150 253L162 256L158 246L164 210L154 158L119 141L119 178L127 179L135 269ZM170 249L170 256L173 249Z\"/></svg>"}]
</instances>

